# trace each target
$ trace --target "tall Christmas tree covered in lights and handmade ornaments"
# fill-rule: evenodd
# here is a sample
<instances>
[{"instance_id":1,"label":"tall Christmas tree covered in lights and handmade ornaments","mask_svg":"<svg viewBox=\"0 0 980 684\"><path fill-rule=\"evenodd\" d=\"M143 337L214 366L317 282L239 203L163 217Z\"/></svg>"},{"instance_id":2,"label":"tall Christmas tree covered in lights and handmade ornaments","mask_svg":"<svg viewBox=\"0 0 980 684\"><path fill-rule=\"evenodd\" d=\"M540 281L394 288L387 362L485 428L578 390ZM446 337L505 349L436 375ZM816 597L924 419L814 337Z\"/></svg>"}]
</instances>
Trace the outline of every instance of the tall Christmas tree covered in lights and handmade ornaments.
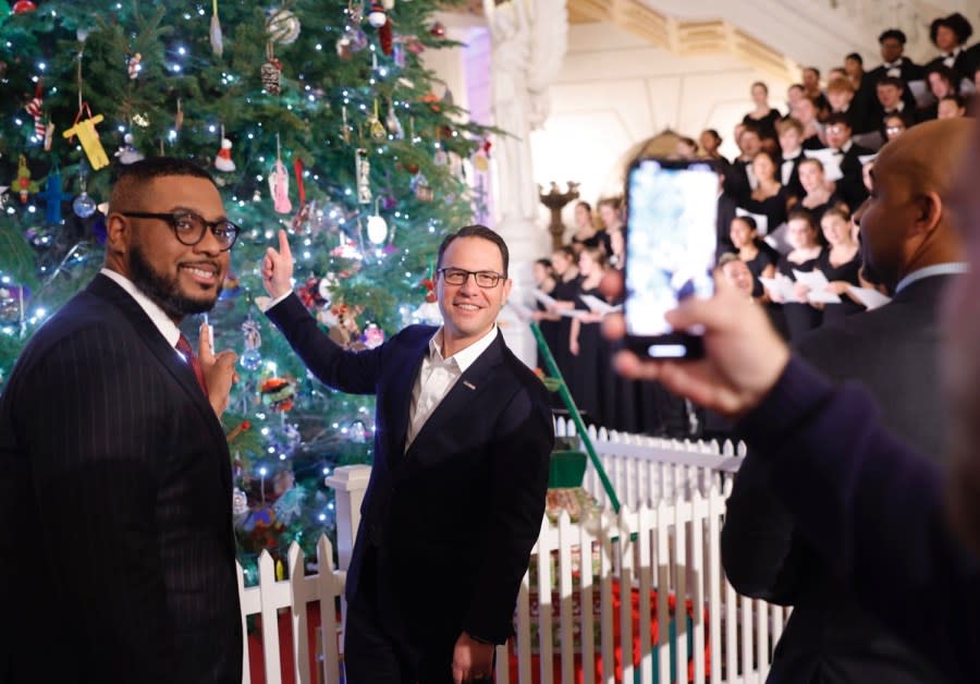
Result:
<instances>
[{"instance_id":1,"label":"tall Christmas tree covered in lights and handmade ornaments","mask_svg":"<svg viewBox=\"0 0 980 684\"><path fill-rule=\"evenodd\" d=\"M439 241L481 211L487 131L424 66L454 45L433 19L453 4L17 0L0 17L0 387L99 269L120 169L210 168L244 229L209 322L240 356L223 422L246 566L331 532L324 474L369 463L373 430L372 399L309 378L256 307L266 246L285 228L301 297L335 341L370 347L438 319Z\"/></svg>"}]
</instances>

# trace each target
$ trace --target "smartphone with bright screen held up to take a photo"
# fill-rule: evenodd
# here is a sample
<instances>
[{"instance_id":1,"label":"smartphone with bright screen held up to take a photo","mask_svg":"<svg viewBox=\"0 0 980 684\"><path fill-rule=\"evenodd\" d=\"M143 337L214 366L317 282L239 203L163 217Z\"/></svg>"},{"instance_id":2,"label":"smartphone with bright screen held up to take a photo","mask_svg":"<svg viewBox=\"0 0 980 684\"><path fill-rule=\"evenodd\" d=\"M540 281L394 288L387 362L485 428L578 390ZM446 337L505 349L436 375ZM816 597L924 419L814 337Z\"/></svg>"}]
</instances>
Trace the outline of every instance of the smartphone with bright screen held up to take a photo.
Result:
<instances>
[{"instance_id":1,"label":"smartphone with bright screen held up to take a photo","mask_svg":"<svg viewBox=\"0 0 980 684\"><path fill-rule=\"evenodd\" d=\"M626 174L626 346L641 358L699 358L700 330L664 314L714 294L718 172L697 160L639 159Z\"/></svg>"}]
</instances>

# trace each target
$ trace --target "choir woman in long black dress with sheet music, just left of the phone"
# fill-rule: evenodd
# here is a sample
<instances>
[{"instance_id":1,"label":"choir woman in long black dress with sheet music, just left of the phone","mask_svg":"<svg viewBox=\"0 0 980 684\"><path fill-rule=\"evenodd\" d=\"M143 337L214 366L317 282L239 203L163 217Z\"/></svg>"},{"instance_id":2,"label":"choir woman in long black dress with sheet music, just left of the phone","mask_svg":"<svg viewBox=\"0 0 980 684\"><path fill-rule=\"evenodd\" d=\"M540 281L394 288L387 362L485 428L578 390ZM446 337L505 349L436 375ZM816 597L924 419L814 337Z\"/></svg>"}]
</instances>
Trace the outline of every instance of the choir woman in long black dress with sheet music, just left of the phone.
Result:
<instances>
[{"instance_id":1,"label":"choir woman in long black dress with sheet music, just left of the phone","mask_svg":"<svg viewBox=\"0 0 980 684\"><path fill-rule=\"evenodd\" d=\"M605 276L609 260L602 249L585 247L578 255L578 292L568 330L568 350L572 354L572 396L579 411L584 411L598 426L609 427L607 402L600 382L601 375L615 375L610 367L610 347L602 337L602 314L592 312L581 300L590 295L604 301L599 284Z\"/></svg>"}]
</instances>

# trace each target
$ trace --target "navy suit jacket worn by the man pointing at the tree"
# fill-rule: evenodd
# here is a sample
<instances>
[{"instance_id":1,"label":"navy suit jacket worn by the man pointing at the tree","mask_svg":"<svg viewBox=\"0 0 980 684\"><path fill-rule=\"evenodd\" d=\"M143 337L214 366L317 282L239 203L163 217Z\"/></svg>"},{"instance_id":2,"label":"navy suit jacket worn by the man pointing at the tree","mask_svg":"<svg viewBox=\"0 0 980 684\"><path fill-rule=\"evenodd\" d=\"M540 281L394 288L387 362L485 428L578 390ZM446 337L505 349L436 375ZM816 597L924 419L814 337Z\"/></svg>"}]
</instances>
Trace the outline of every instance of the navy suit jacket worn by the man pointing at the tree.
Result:
<instances>
[{"instance_id":1,"label":"navy suit jacket worn by the man pointing at the tree","mask_svg":"<svg viewBox=\"0 0 980 684\"><path fill-rule=\"evenodd\" d=\"M392 632L463 630L502 644L544 513L554 430L544 386L497 340L466 369L405 449L412 390L437 328L344 351L292 295L267 312L313 374L377 394L375 460L347 571L357 591L368 546Z\"/></svg>"}]
</instances>

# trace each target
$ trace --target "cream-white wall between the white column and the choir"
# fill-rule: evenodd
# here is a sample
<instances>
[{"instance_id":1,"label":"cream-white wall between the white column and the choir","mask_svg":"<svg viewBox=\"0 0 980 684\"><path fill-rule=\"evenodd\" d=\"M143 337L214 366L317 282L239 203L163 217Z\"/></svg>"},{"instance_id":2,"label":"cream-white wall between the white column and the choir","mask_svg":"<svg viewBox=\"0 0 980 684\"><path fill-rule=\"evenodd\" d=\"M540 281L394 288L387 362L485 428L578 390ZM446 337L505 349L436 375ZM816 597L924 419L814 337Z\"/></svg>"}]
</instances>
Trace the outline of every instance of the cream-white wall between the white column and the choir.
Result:
<instances>
[{"instance_id":1,"label":"cream-white wall between the white column and the choir","mask_svg":"<svg viewBox=\"0 0 980 684\"><path fill-rule=\"evenodd\" d=\"M679 58L610 24L573 25L568 54L551 89L551 115L531 134L535 176L548 187L578 181L595 205L622 193L622 157L671 129L697 139L716 129L732 157L732 129L751 109L750 86L769 85L770 103L785 111L789 83L727 54ZM572 206L565 209L572 224Z\"/></svg>"}]
</instances>

